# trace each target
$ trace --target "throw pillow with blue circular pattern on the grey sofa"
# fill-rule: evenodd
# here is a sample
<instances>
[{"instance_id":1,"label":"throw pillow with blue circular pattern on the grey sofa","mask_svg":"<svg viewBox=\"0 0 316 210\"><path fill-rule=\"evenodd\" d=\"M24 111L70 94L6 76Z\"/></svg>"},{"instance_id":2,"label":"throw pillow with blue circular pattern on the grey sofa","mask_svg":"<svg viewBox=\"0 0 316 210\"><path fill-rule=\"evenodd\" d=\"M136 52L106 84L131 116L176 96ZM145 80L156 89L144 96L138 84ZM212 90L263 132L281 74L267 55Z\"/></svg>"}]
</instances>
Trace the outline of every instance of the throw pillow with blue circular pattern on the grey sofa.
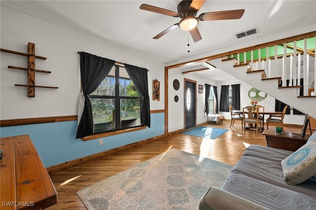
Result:
<instances>
[{"instance_id":1,"label":"throw pillow with blue circular pattern on the grey sofa","mask_svg":"<svg viewBox=\"0 0 316 210\"><path fill-rule=\"evenodd\" d=\"M295 185L316 174L316 141L309 142L281 161L284 179Z\"/></svg>"}]
</instances>

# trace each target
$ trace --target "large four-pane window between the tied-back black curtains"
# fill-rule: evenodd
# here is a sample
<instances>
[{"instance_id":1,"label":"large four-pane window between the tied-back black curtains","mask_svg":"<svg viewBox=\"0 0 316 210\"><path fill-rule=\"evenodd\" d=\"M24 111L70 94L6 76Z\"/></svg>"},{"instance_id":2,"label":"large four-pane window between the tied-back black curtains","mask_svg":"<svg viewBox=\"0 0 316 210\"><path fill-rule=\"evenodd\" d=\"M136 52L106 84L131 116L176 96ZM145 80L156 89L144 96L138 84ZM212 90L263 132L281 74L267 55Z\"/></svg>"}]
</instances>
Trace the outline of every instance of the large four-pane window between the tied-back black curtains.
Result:
<instances>
[{"instance_id":1,"label":"large four-pane window between the tied-back black curtains","mask_svg":"<svg viewBox=\"0 0 316 210\"><path fill-rule=\"evenodd\" d=\"M115 65L99 87L89 95L94 134L141 125L143 100L124 67Z\"/></svg>"}]
</instances>

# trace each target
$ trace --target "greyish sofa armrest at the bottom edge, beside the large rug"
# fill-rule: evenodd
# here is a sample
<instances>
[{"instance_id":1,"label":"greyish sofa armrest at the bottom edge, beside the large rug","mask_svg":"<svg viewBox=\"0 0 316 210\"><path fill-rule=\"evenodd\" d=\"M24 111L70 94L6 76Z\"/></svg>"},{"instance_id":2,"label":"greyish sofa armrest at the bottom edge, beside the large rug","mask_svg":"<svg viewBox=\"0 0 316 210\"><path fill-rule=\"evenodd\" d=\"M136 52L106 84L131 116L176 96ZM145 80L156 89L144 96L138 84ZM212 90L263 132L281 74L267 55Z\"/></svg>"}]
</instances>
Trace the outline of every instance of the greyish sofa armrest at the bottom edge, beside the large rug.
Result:
<instances>
[{"instance_id":1,"label":"greyish sofa armrest at the bottom edge, beside the large rug","mask_svg":"<svg viewBox=\"0 0 316 210\"><path fill-rule=\"evenodd\" d=\"M199 210L269 210L235 194L210 187L200 199Z\"/></svg>"}]
</instances>

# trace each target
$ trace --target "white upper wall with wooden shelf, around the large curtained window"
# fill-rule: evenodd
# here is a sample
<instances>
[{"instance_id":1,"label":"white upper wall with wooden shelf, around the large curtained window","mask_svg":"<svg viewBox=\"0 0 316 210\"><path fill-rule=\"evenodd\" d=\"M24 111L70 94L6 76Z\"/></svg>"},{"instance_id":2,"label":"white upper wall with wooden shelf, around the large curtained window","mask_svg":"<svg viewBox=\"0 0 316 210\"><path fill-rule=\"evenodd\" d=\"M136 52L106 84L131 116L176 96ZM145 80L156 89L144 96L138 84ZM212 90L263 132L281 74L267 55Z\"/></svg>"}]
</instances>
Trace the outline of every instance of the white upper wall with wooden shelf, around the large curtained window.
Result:
<instances>
[{"instance_id":1,"label":"white upper wall with wooden shelf, around the large curtained window","mask_svg":"<svg viewBox=\"0 0 316 210\"><path fill-rule=\"evenodd\" d=\"M51 71L36 73L35 84L56 86L58 89L35 91L35 98L27 97L27 71L11 70L7 66L27 68L27 57L0 53L0 119L23 119L49 116L77 115L80 93L78 51L146 68L151 97L151 110L164 109L164 64L139 52L118 47L101 39L82 35L40 19L1 6L1 48L27 53L28 42L35 43L35 68ZM152 100L153 79L160 81L160 101Z\"/></svg>"}]
</instances>

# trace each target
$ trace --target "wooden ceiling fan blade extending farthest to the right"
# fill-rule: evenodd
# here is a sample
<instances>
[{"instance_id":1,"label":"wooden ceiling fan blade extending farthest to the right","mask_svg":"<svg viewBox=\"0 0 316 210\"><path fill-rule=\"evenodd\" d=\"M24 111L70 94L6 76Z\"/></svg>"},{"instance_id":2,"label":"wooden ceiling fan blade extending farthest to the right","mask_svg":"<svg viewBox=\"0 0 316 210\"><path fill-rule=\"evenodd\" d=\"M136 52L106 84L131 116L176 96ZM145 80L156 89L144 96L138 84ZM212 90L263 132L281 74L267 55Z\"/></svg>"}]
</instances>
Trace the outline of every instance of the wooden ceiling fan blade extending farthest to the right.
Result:
<instances>
[{"instance_id":1,"label":"wooden ceiling fan blade extending farthest to the right","mask_svg":"<svg viewBox=\"0 0 316 210\"><path fill-rule=\"evenodd\" d=\"M198 16L199 20L233 20L239 19L244 13L244 9L206 12Z\"/></svg>"}]
</instances>

